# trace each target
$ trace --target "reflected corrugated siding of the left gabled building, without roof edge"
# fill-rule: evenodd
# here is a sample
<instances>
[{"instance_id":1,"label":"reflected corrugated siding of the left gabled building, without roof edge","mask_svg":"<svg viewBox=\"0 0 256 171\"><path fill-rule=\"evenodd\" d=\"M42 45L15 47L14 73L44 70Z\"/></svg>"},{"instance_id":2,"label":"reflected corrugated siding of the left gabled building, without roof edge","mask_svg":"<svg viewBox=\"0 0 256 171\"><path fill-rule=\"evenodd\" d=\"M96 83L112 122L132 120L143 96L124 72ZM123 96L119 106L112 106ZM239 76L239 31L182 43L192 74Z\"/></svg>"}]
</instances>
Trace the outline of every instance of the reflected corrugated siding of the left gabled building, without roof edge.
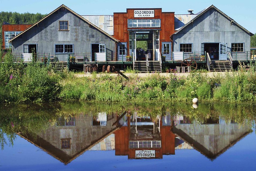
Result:
<instances>
[{"instance_id":1,"label":"reflected corrugated siding of the left gabled building, without roof edge","mask_svg":"<svg viewBox=\"0 0 256 171\"><path fill-rule=\"evenodd\" d=\"M93 116L81 114L75 117L75 126L56 126L49 124L48 129L38 136L49 142L55 148L63 151L66 155L75 156L116 128L112 126L116 121L116 116L110 117L108 115L107 117L106 126L93 126ZM61 139L67 138L71 138L71 148L62 149ZM49 151L49 149L47 150ZM54 155L58 156L57 154Z\"/></svg>"}]
</instances>

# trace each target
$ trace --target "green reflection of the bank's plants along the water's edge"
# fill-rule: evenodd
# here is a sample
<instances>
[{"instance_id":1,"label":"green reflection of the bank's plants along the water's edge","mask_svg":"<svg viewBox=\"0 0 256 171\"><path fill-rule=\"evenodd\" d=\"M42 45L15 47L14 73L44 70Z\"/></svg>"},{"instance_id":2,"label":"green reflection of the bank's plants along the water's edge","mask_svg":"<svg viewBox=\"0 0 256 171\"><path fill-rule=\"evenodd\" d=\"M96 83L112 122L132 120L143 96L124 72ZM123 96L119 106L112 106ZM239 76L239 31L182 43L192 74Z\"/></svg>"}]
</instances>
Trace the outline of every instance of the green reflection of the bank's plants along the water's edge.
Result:
<instances>
[{"instance_id":1,"label":"green reflection of the bank's plants along the water's edge","mask_svg":"<svg viewBox=\"0 0 256 171\"><path fill-rule=\"evenodd\" d=\"M186 115L191 121L201 123L219 117L225 121L232 121L244 124L247 120L254 125L256 114L255 104L225 104L209 103L199 104L194 109L188 103L84 103L84 102L54 102L45 104L2 104L0 105L0 145L7 143L4 138L6 134L10 144L13 144L16 133L29 133L35 135L46 129L48 123L55 124L62 116L68 119L70 116L89 114L97 116L99 112L105 112L108 117L113 115L121 116L125 111L131 116L135 111L137 116L158 116L170 114L171 116Z\"/></svg>"}]
</instances>

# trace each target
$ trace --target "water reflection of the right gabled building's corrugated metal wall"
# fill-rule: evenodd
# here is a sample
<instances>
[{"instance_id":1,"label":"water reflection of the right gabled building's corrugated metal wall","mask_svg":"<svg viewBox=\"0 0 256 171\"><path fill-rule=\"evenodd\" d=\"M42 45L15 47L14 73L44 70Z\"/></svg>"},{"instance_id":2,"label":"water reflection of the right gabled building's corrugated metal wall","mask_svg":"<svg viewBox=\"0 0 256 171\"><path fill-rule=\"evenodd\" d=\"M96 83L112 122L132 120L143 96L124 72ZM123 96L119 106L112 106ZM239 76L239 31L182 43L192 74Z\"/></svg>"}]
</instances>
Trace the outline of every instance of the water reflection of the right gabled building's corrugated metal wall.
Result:
<instances>
[{"instance_id":1,"label":"water reflection of the right gabled building's corrugated metal wall","mask_svg":"<svg viewBox=\"0 0 256 171\"><path fill-rule=\"evenodd\" d=\"M232 142L250 131L251 126L248 124L239 125L223 119L219 120L219 124L198 124L196 121L193 124L180 124L179 120L176 120L174 125L175 134L183 135L183 138L188 137L187 139L192 138L194 145L199 143L212 155L231 146Z\"/></svg>"}]
</instances>

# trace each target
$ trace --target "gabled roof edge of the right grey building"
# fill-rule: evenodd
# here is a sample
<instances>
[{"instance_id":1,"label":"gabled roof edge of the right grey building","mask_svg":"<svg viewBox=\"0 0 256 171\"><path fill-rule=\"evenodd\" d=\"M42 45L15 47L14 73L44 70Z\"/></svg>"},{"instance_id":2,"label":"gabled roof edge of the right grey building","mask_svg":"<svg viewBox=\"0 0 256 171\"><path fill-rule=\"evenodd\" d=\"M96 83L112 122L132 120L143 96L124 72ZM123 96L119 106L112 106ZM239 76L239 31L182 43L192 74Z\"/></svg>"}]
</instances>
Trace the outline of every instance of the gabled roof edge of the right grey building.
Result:
<instances>
[{"instance_id":1,"label":"gabled roof edge of the right grey building","mask_svg":"<svg viewBox=\"0 0 256 171\"><path fill-rule=\"evenodd\" d=\"M215 7L214 5L209 6L208 8L200 11L199 13L197 13L197 16L193 19L190 20L190 22L188 22L187 24L185 24L182 28L180 28L177 32L175 32L174 34L177 34L178 32L180 32L180 30L184 29L186 26L188 26L191 22L193 22L194 20L196 20L198 17L200 17L202 14L204 14L206 11L208 11L209 9L214 8L217 11L219 11L219 13L221 13L222 15L224 15L225 17L227 17L230 21L234 22L238 27L240 27L241 29L243 29L245 32L247 32L248 34L250 34L250 36L253 36L254 34L249 32L248 30L246 30L244 27L242 27L241 25L239 25L237 22L235 22L232 18L230 18L228 15L226 15L225 13L223 13L221 10L219 10L217 7ZM173 34L172 34L173 35Z\"/></svg>"}]
</instances>

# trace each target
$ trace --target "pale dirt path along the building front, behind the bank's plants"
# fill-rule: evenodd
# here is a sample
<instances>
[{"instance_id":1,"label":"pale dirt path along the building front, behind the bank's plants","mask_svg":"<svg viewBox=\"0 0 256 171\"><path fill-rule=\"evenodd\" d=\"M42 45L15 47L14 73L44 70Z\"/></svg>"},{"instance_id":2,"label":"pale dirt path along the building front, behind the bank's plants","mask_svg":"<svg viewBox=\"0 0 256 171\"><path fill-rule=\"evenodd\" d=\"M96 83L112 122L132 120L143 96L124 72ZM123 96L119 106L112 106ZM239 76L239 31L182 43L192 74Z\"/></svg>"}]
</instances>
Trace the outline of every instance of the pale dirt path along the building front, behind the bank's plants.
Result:
<instances>
[{"instance_id":1,"label":"pale dirt path along the building front, behind the bank's plants","mask_svg":"<svg viewBox=\"0 0 256 171\"><path fill-rule=\"evenodd\" d=\"M124 75L126 75L127 77L131 76L131 75L138 75L138 76L141 76L141 77L146 77L146 76L149 76L149 75L152 75L154 73L124 73ZM171 74L176 74L177 76L188 76L190 73L159 73L161 76L166 76L166 77L169 77ZM206 73L202 73L202 74L208 74L210 77L212 77L214 74L221 74L221 75L224 75L225 72L206 72ZM97 77L100 77L100 76L103 76L105 74L103 73L99 73L97 74ZM117 74L114 74L114 73L111 73L110 76L116 76ZM92 74L76 74L77 77L91 77Z\"/></svg>"}]
</instances>

